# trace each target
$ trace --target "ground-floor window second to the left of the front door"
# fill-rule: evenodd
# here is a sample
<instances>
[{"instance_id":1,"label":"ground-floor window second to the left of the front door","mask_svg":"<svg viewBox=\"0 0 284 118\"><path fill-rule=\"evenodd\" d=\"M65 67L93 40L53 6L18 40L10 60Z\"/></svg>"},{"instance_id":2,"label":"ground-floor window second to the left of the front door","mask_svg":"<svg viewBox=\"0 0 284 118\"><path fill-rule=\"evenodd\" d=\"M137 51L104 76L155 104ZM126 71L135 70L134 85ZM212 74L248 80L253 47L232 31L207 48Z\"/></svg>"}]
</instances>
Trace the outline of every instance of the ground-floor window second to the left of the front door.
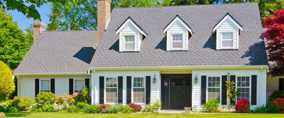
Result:
<instances>
[{"instance_id":1,"label":"ground-floor window second to the left of the front door","mask_svg":"<svg viewBox=\"0 0 284 118\"><path fill-rule=\"evenodd\" d=\"M106 103L117 102L117 78L106 78Z\"/></svg>"}]
</instances>

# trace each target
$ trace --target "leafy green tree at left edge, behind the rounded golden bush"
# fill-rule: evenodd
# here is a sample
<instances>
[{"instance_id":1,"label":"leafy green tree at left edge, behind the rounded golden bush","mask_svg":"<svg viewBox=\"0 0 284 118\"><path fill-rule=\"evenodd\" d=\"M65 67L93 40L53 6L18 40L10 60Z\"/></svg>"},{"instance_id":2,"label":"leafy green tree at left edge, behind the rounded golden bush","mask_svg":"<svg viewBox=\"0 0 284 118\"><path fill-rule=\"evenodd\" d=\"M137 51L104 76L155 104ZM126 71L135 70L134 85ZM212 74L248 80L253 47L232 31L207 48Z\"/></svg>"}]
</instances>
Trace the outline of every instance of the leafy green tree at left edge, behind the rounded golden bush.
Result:
<instances>
[{"instance_id":1,"label":"leafy green tree at left edge, behind the rounded golden bush","mask_svg":"<svg viewBox=\"0 0 284 118\"><path fill-rule=\"evenodd\" d=\"M17 68L32 44L31 31L25 34L12 16L0 8L0 60L10 68Z\"/></svg>"}]
</instances>

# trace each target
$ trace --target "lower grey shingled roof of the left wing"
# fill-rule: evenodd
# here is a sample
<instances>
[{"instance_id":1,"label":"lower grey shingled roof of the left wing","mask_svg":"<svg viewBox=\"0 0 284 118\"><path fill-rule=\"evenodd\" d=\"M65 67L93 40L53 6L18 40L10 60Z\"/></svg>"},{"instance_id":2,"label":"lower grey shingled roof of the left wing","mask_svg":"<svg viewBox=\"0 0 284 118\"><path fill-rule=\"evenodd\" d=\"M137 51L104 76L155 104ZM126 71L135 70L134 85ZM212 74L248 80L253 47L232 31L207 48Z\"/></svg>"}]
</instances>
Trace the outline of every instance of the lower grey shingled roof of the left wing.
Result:
<instances>
[{"instance_id":1,"label":"lower grey shingled roof of the left wing","mask_svg":"<svg viewBox=\"0 0 284 118\"><path fill-rule=\"evenodd\" d=\"M94 30L42 32L15 74L87 73L96 44Z\"/></svg>"}]
</instances>

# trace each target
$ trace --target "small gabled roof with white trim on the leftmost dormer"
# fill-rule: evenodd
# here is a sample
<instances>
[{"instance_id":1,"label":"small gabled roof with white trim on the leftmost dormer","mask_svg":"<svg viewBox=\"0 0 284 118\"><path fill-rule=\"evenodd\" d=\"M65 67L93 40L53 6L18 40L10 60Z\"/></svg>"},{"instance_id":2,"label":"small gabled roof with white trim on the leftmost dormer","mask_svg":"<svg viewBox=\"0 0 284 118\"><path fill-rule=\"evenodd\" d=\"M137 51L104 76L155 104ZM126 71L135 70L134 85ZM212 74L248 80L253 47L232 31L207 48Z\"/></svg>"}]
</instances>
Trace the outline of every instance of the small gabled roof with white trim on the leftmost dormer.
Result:
<instances>
[{"instance_id":1,"label":"small gabled roof with white trim on the leftmost dormer","mask_svg":"<svg viewBox=\"0 0 284 118\"><path fill-rule=\"evenodd\" d=\"M131 17L128 17L116 30L116 34L118 34L127 23L131 23L141 34L143 34L145 37L147 37L148 33L143 30L142 27L140 27L136 22L134 22L133 19L131 19Z\"/></svg>"}]
</instances>

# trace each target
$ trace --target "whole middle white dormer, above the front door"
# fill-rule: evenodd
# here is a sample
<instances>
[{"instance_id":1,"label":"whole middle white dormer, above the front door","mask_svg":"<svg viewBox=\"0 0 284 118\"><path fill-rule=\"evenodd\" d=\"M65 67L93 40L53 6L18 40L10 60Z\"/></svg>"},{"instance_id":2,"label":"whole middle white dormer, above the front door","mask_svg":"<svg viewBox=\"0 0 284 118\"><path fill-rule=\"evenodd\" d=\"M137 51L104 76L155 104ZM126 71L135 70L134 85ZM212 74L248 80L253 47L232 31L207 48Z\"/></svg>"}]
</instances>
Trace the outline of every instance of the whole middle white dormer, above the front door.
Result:
<instances>
[{"instance_id":1,"label":"whole middle white dormer, above the front door","mask_svg":"<svg viewBox=\"0 0 284 118\"><path fill-rule=\"evenodd\" d=\"M188 50L188 37L192 35L191 27L178 15L164 28L167 35L167 51Z\"/></svg>"}]
</instances>

